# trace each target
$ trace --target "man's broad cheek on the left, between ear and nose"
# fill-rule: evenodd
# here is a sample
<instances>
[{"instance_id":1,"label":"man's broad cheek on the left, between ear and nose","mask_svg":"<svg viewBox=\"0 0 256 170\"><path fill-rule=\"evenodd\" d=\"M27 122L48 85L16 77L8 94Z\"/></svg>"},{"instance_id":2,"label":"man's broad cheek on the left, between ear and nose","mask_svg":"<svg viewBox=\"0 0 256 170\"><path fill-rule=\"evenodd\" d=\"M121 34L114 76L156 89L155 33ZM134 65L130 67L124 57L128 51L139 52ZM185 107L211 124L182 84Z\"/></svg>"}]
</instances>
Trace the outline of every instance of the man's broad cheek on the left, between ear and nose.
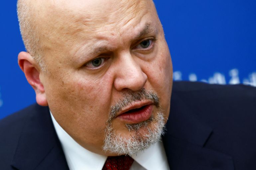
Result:
<instances>
[{"instance_id":1,"label":"man's broad cheek on the left, between ear and nose","mask_svg":"<svg viewBox=\"0 0 256 170\"><path fill-rule=\"evenodd\" d=\"M102 141L112 85L106 83L108 77L84 77L73 75L53 82L47 96L49 107L63 129L77 141Z\"/></svg>"}]
</instances>

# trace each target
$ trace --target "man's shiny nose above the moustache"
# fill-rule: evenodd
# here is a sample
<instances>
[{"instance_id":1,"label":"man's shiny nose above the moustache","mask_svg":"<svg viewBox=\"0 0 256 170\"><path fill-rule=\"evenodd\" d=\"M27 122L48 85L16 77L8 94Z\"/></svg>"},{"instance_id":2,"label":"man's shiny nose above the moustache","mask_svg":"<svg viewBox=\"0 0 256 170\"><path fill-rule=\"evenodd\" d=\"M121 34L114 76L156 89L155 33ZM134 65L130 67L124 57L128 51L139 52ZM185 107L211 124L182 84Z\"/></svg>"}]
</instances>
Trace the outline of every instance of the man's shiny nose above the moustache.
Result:
<instances>
[{"instance_id":1,"label":"man's shiny nose above the moustache","mask_svg":"<svg viewBox=\"0 0 256 170\"><path fill-rule=\"evenodd\" d=\"M142 71L138 61L131 55L126 55L117 62L114 87L121 91L130 89L133 91L141 89L148 80L147 75Z\"/></svg>"}]
</instances>

